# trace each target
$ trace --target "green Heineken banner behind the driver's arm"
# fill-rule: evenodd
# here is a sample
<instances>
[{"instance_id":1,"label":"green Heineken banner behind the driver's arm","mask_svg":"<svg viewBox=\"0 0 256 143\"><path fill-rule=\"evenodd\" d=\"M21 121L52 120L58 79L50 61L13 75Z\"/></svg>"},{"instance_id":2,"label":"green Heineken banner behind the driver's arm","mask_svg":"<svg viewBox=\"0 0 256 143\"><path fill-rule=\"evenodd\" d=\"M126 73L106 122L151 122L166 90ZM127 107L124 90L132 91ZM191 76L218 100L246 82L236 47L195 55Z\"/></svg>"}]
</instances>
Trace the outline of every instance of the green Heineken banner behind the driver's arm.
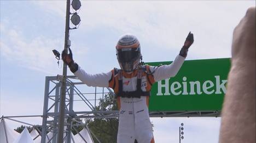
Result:
<instances>
[{"instance_id":1,"label":"green Heineken banner behind the driver's arm","mask_svg":"<svg viewBox=\"0 0 256 143\"><path fill-rule=\"evenodd\" d=\"M147 63L158 66L171 62ZM186 60L175 77L156 82L150 111L220 111L230 59Z\"/></svg>"}]
</instances>

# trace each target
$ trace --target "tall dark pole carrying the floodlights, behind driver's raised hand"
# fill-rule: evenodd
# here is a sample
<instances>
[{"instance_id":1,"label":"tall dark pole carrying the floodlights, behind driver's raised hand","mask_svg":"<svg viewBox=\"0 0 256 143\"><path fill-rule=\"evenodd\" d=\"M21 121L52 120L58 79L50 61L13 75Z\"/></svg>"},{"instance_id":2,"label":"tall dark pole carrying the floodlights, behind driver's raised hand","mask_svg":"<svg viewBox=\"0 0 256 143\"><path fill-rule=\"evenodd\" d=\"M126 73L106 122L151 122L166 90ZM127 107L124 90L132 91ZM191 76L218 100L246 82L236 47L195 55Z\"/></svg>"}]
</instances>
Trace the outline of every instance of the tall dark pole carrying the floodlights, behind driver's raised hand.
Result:
<instances>
[{"instance_id":1,"label":"tall dark pole carrying the floodlights, behind driver's raised hand","mask_svg":"<svg viewBox=\"0 0 256 143\"><path fill-rule=\"evenodd\" d=\"M65 28L65 53L68 52L68 39L69 39L69 12L70 11L70 0L67 0L67 10L66 10L66 28ZM59 132L58 132L58 143L63 141L63 129L65 120L65 105L66 105L66 77L67 77L67 65L63 63L63 79L61 86L61 102L60 102L60 116L59 116Z\"/></svg>"}]
</instances>

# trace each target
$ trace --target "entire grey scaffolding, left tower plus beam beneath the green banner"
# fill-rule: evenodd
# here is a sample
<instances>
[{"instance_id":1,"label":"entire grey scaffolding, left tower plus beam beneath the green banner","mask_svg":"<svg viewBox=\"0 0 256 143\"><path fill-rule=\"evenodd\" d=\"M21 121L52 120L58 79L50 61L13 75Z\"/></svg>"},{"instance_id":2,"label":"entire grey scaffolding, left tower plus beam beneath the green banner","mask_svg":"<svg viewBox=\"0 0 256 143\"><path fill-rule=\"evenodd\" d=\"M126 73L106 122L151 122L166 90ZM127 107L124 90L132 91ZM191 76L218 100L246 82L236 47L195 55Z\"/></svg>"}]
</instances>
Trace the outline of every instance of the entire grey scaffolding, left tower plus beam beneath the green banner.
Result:
<instances>
[{"instance_id":1,"label":"entire grey scaffolding, left tower plus beam beneath the green banner","mask_svg":"<svg viewBox=\"0 0 256 143\"><path fill-rule=\"evenodd\" d=\"M57 140L57 125L60 115L60 87L62 76L45 77L45 91L44 91L44 107L43 107L43 121L42 121L42 139L41 142L45 142L47 132L53 132L53 138L48 139L52 142ZM66 88L66 100L65 100L65 136L67 142L71 142L71 129L72 122L79 121L77 119L88 118L113 118L119 117L118 110L104 111L97 110L98 102L104 100L104 95L114 94L109 88L96 88L92 92L82 92L82 89L88 88L75 76L67 76L67 88ZM82 85L82 88L81 88ZM90 88L92 89L92 88ZM106 89L106 91L104 91ZM100 90L100 92L97 92ZM88 90L86 90L88 91ZM78 110L74 109L74 101L82 102L81 107ZM76 103L77 104L77 103ZM102 104L103 106L103 104ZM103 107L101 108L103 109ZM219 111L150 111L150 117L218 117ZM82 123L82 122L80 122Z\"/></svg>"}]
</instances>

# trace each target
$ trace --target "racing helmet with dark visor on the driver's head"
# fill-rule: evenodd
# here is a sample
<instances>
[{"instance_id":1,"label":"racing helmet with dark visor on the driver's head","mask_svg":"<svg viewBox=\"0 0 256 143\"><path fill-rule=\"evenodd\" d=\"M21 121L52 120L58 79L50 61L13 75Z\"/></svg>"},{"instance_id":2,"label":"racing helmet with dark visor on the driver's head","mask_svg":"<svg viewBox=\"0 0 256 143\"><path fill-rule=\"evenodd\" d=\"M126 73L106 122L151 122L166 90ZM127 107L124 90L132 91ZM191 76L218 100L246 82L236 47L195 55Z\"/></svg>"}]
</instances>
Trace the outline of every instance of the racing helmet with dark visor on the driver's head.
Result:
<instances>
[{"instance_id":1,"label":"racing helmet with dark visor on the driver's head","mask_svg":"<svg viewBox=\"0 0 256 143\"><path fill-rule=\"evenodd\" d=\"M115 49L118 63L123 71L132 72L137 69L142 55L141 45L135 36L131 34L122 36Z\"/></svg>"}]
</instances>

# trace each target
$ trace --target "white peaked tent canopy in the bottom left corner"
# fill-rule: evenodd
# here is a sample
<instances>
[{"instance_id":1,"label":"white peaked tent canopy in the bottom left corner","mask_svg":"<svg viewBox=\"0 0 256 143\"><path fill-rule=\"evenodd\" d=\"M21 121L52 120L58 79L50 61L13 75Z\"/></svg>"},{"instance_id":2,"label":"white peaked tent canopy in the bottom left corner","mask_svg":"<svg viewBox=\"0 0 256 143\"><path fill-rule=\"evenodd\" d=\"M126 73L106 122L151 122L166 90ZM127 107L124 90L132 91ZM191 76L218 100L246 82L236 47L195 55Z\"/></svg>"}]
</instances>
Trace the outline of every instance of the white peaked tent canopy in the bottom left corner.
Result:
<instances>
[{"instance_id":1,"label":"white peaked tent canopy in the bottom left corner","mask_svg":"<svg viewBox=\"0 0 256 143\"><path fill-rule=\"evenodd\" d=\"M19 136L20 134L16 132L14 129L10 129L8 125L6 125L6 122L4 119L0 122L0 142L14 142L14 140ZM8 141L7 141L8 139Z\"/></svg>"}]
</instances>

